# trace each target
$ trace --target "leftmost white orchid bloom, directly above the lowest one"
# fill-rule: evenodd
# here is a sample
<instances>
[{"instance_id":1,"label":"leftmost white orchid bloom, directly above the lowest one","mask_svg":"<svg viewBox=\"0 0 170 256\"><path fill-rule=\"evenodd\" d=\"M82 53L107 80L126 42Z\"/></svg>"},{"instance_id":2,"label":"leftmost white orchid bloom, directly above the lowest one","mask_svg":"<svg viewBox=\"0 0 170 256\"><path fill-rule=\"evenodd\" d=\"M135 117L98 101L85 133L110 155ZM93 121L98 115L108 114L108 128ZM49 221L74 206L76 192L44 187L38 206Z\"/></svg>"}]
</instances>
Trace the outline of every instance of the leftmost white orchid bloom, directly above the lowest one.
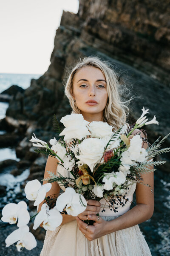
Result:
<instances>
[{"instance_id":1,"label":"leftmost white orchid bloom, directly above the lowest one","mask_svg":"<svg viewBox=\"0 0 170 256\"><path fill-rule=\"evenodd\" d=\"M18 204L6 204L2 210L2 221L9 222L9 224L17 223L17 227L22 227L28 224L30 216L27 210L25 201L20 201Z\"/></svg>"}]
</instances>

